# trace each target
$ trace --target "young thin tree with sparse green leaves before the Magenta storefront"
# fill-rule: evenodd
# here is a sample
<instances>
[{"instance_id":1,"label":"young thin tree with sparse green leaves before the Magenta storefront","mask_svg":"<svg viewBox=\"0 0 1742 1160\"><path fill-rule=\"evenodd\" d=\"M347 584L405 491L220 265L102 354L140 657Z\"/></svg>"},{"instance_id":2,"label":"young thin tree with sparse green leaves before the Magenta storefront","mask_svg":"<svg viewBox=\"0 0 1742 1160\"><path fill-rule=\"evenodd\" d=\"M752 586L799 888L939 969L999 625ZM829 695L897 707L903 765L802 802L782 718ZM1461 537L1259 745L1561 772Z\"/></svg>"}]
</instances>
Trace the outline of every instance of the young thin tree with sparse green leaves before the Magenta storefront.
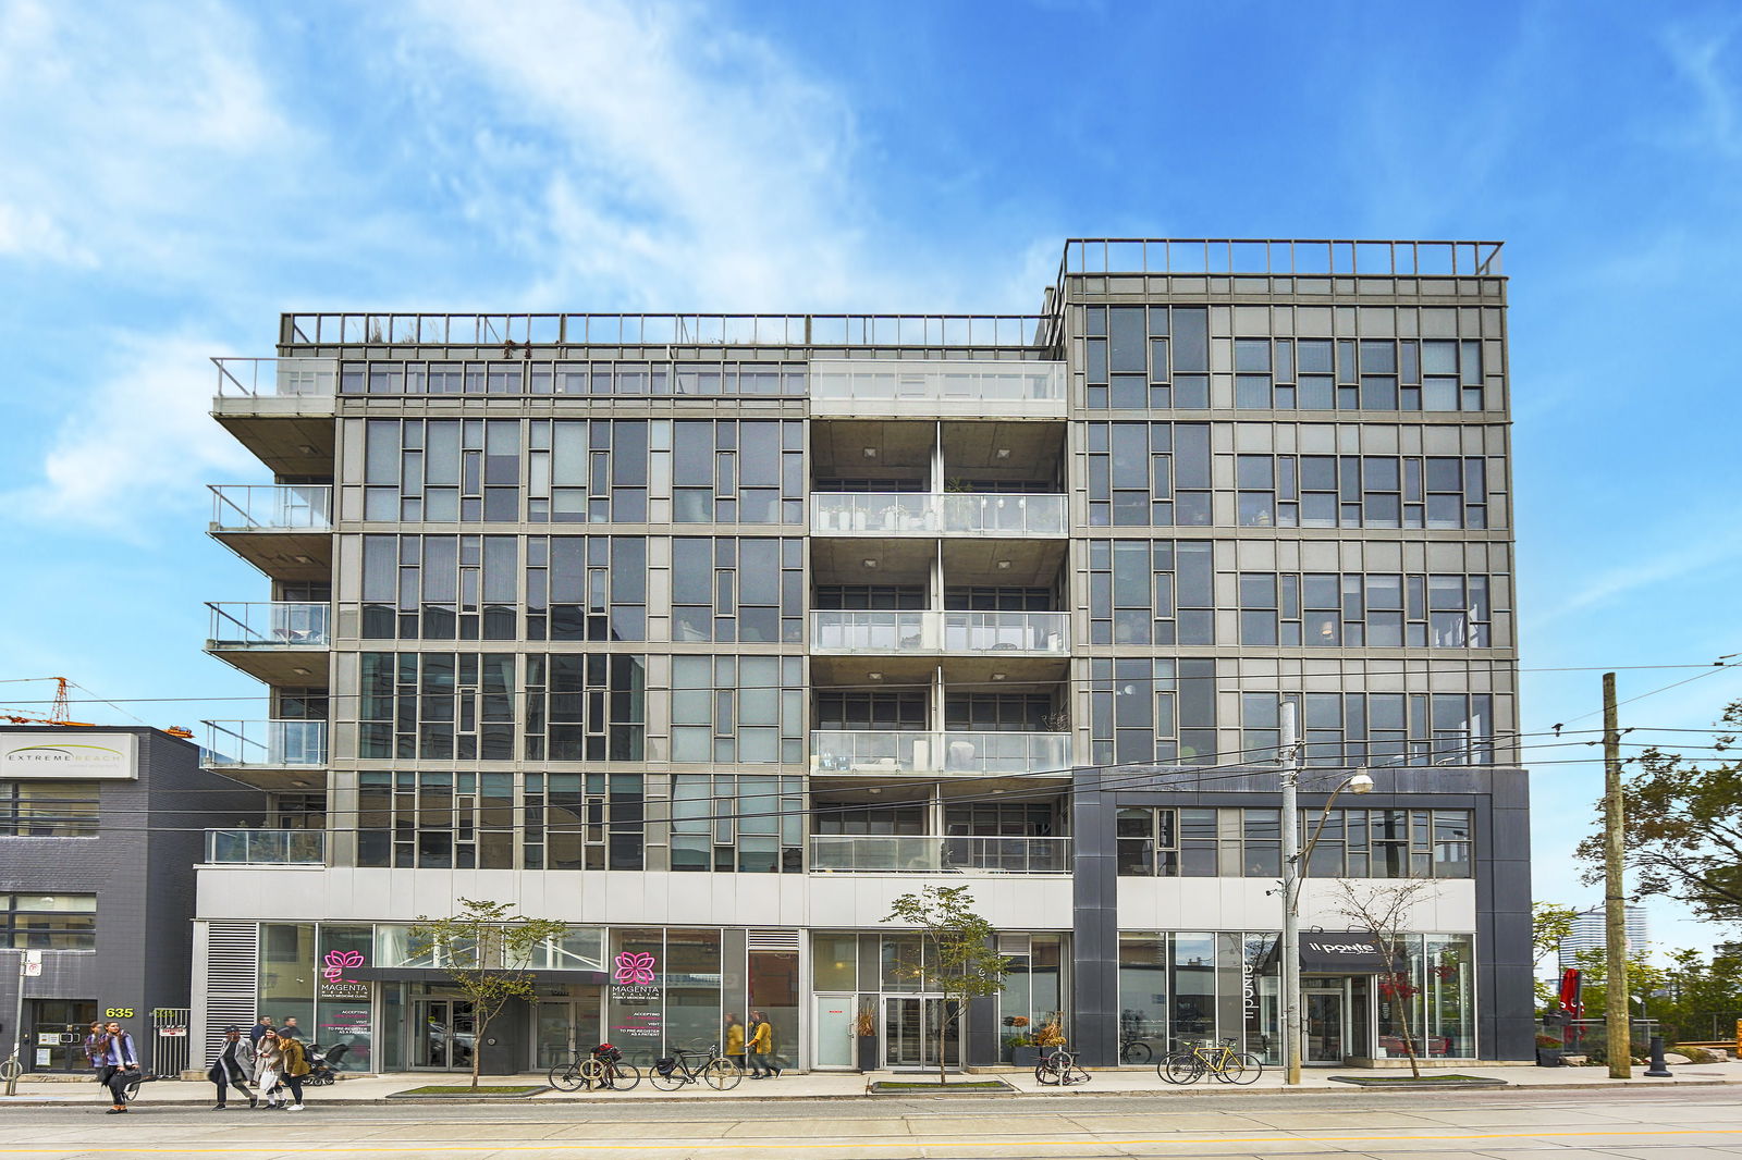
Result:
<instances>
[{"instance_id":1,"label":"young thin tree with sparse green leaves before the Magenta storefront","mask_svg":"<svg viewBox=\"0 0 1742 1160\"><path fill-rule=\"evenodd\" d=\"M505 904L477 899L460 899L460 913L451 918L418 916L413 923L411 954L427 954L472 1003L474 1089L490 1022L509 1000L533 1000L533 954L566 930L568 923L509 914Z\"/></svg>"}]
</instances>

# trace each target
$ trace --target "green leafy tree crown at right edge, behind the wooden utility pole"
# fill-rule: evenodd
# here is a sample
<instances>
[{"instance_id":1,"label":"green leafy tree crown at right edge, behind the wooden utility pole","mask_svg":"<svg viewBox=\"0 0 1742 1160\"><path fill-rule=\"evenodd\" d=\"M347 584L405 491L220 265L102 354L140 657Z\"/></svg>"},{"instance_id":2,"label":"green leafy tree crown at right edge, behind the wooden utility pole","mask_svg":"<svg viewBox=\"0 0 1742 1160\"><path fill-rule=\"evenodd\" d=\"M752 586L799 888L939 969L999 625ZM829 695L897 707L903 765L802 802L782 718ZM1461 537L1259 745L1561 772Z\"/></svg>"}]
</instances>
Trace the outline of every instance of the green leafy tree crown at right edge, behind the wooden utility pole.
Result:
<instances>
[{"instance_id":1,"label":"green leafy tree crown at right edge, behind the wooden utility pole","mask_svg":"<svg viewBox=\"0 0 1742 1160\"><path fill-rule=\"evenodd\" d=\"M1719 719L1712 751L1735 752L1742 700ZM1742 921L1742 761L1690 761L1646 749L1625 784L1627 869L1639 895L1678 899L1709 921ZM1578 843L1585 881L1603 878L1603 803L1597 829Z\"/></svg>"}]
</instances>

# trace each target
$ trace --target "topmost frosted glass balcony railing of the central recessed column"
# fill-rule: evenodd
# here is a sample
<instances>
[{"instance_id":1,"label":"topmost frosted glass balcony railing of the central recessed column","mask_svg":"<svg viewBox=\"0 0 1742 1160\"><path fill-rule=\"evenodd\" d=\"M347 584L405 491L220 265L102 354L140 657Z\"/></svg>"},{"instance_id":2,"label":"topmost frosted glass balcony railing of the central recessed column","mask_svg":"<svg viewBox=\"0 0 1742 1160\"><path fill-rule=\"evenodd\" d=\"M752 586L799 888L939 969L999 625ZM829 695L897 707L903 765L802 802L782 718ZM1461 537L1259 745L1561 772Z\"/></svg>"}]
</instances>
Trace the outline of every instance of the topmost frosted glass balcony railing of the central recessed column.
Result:
<instances>
[{"instance_id":1,"label":"topmost frosted glass balcony railing of the central recessed column","mask_svg":"<svg viewBox=\"0 0 1742 1160\"><path fill-rule=\"evenodd\" d=\"M1063 362L812 359L819 418L1064 418Z\"/></svg>"}]
</instances>

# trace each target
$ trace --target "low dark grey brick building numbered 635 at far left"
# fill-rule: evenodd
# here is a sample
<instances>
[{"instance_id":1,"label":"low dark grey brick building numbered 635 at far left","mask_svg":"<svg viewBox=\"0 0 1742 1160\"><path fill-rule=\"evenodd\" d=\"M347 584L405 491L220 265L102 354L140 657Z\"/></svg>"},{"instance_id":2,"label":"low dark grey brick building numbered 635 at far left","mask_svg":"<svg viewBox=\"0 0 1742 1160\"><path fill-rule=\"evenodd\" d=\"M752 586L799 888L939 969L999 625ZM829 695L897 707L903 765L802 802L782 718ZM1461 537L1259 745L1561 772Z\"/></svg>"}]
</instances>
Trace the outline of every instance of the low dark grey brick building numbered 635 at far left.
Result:
<instances>
[{"instance_id":1,"label":"low dark grey brick building numbered 635 at far left","mask_svg":"<svg viewBox=\"0 0 1742 1160\"><path fill-rule=\"evenodd\" d=\"M26 1069L87 1071L92 1019L179 1069L204 833L260 826L265 805L159 730L0 730L0 946L19 951L0 967L0 1040Z\"/></svg>"}]
</instances>

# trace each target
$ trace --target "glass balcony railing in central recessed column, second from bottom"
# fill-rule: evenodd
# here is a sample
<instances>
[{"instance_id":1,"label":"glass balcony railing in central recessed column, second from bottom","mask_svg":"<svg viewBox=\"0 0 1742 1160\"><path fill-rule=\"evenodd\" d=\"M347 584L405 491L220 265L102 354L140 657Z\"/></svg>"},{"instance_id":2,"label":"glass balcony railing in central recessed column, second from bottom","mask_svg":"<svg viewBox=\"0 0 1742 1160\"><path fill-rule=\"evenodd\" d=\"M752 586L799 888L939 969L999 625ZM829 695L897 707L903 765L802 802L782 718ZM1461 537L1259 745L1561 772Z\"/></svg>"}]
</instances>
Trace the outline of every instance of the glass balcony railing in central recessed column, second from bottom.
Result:
<instances>
[{"instance_id":1,"label":"glass balcony railing in central recessed column, second from bottom","mask_svg":"<svg viewBox=\"0 0 1742 1160\"><path fill-rule=\"evenodd\" d=\"M814 773L1070 773L1070 733L819 730Z\"/></svg>"}]
</instances>

